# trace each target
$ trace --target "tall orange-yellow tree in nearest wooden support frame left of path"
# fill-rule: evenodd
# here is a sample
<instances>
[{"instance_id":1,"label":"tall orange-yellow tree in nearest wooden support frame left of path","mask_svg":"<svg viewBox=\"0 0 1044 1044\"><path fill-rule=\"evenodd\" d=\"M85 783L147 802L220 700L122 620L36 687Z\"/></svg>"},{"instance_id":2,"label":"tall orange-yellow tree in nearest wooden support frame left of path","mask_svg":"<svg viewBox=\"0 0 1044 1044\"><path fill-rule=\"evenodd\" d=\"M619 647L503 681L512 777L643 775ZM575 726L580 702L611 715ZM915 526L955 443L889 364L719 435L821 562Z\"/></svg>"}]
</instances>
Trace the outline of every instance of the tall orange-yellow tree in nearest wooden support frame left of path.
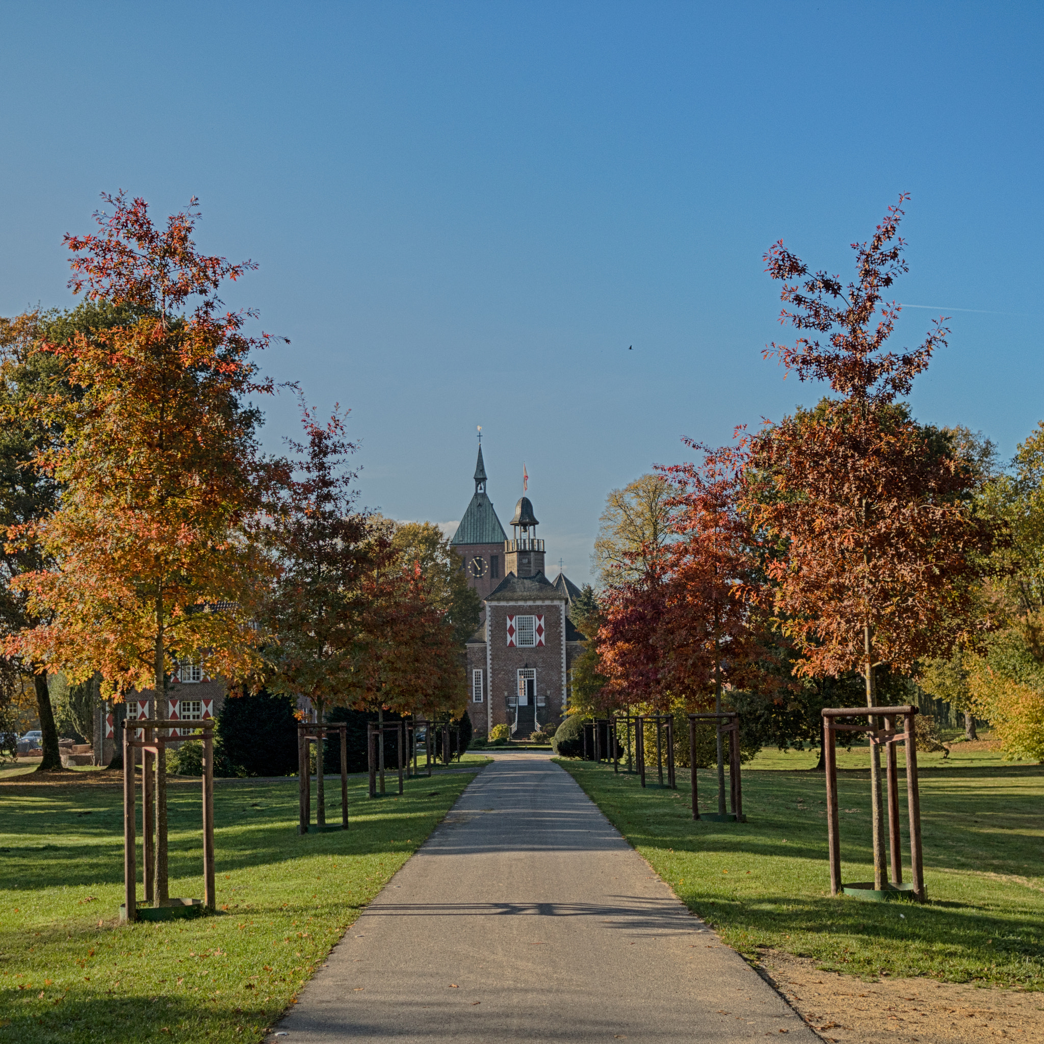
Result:
<instances>
[{"instance_id":1,"label":"tall orange-yellow tree in nearest wooden support frame left of path","mask_svg":"<svg viewBox=\"0 0 1044 1044\"><path fill-rule=\"evenodd\" d=\"M26 410L63 433L34 458L62 496L46 518L9 530L16 546L41 554L41 568L14 585L40 622L10 636L5 651L72 683L97 670L106 694L136 689L166 717L181 660L206 657L208 673L230 683L260 664L264 636L252 616L266 567L247 527L269 476L247 397L269 390L251 359L267 337L244 333L252 313L220 311L221 283L254 266L196 250L194 200L161 229L143 199L104 199L112 212L96 213L98 233L66 237L70 285L136 318L41 346L81 394L42 395ZM162 904L162 754L157 762Z\"/></svg>"}]
</instances>

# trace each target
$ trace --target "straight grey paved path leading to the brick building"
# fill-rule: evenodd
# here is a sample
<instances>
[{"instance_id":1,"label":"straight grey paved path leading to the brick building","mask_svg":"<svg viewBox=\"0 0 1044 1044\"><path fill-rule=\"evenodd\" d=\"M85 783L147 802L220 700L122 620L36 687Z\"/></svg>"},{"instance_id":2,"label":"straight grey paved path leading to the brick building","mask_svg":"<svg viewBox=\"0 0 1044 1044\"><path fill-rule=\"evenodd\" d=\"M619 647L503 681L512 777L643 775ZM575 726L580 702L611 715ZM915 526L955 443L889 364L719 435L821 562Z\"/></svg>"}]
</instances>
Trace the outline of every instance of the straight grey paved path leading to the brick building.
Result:
<instances>
[{"instance_id":1,"label":"straight grey paved path leading to the brick building","mask_svg":"<svg viewBox=\"0 0 1044 1044\"><path fill-rule=\"evenodd\" d=\"M539 754L476 777L276 1028L281 1044L816 1040Z\"/></svg>"}]
</instances>

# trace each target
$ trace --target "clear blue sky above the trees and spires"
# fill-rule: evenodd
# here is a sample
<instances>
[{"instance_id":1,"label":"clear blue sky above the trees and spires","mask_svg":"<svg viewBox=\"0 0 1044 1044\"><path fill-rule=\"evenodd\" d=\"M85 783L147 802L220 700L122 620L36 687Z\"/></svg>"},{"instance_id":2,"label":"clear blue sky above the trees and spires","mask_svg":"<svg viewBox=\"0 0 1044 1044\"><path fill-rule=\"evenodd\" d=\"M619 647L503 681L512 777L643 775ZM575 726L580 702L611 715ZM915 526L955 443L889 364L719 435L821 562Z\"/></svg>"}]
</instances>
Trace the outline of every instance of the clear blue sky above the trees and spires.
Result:
<instances>
[{"instance_id":1,"label":"clear blue sky above the trees and spires","mask_svg":"<svg viewBox=\"0 0 1044 1044\"><path fill-rule=\"evenodd\" d=\"M1039 4L0 10L0 313L72 302L102 190L197 195L260 264L226 300L290 338L264 367L351 407L393 517L459 518L481 424L501 520L524 461L585 579L608 490L818 396L761 358L769 244L847 277L902 191L897 346L952 328L915 413L1005 455L1044 417Z\"/></svg>"}]
</instances>

